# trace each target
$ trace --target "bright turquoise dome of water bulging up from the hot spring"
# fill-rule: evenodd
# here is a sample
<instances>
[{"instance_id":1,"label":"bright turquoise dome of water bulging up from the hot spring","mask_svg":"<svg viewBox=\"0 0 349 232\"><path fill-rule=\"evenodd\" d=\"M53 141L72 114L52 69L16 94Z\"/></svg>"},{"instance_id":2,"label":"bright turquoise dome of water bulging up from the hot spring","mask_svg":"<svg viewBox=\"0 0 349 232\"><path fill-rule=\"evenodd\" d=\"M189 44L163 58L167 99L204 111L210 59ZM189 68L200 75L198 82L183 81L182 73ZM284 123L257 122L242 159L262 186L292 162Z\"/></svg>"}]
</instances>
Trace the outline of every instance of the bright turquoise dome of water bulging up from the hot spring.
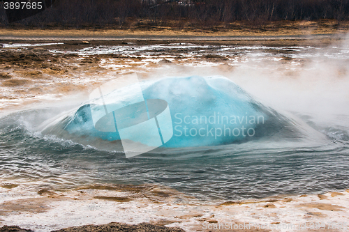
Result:
<instances>
[{"instance_id":1,"label":"bright turquoise dome of water bulging up from the hot spring","mask_svg":"<svg viewBox=\"0 0 349 232\"><path fill-rule=\"evenodd\" d=\"M218 146L267 137L288 141L306 137L303 125L253 100L225 77L138 82L136 75L128 75L113 82L91 93L89 104L64 121L64 130L87 138L89 144L101 139L121 141L126 155L158 146Z\"/></svg>"}]
</instances>

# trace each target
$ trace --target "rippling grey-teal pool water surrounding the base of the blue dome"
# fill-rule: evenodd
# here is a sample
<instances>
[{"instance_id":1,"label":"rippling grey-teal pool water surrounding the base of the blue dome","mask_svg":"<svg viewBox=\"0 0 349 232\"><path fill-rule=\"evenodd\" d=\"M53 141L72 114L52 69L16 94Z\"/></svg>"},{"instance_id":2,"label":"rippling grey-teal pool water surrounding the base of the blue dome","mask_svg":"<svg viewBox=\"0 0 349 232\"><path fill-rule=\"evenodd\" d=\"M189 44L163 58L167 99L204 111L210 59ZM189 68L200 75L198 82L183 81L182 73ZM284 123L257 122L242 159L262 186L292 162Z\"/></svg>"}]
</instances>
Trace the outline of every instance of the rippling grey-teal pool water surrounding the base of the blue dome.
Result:
<instances>
[{"instance_id":1,"label":"rippling grey-teal pool water surrounding the base of the blue dome","mask_svg":"<svg viewBox=\"0 0 349 232\"><path fill-rule=\"evenodd\" d=\"M0 178L67 189L92 183L165 185L199 199L248 199L275 194L343 190L349 184L348 127L322 127L298 141L266 136L243 143L156 148L126 159L122 151L82 145L36 127L60 109L22 111L0 118ZM41 118L40 118L41 117ZM348 118L344 118L344 121ZM315 136L315 140L311 138ZM117 146L114 146L114 148Z\"/></svg>"}]
</instances>

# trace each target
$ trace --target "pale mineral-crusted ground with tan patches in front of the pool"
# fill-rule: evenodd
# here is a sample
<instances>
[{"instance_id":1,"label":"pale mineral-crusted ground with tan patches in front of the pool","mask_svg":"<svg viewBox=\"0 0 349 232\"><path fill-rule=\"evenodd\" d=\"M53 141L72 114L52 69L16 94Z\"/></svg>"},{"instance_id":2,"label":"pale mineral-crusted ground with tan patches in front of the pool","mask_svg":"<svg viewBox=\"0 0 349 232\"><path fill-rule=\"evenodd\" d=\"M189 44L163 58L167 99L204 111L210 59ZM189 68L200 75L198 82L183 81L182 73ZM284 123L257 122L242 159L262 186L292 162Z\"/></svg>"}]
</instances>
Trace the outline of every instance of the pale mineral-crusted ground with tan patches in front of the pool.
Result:
<instances>
[{"instance_id":1,"label":"pale mineral-crusted ground with tan patches in front of the pool","mask_svg":"<svg viewBox=\"0 0 349 232\"><path fill-rule=\"evenodd\" d=\"M12 190L0 188L0 195L2 203L4 201L16 203L17 200L27 199L28 203L35 203L38 200L37 202L43 205L43 212L13 210L1 216L1 224L15 224L35 231L52 231L68 226L110 222L139 224L168 221L168 226L197 231L203 229L203 225L245 223L300 226L305 223L309 225L311 222L324 222L327 226L333 226L334 222L349 221L348 192L341 192L336 196L331 196L330 193L325 194L327 199L320 199L317 195L279 196L275 202L268 202L270 199L261 199L226 206L219 206L222 202L218 201L205 203L194 199L191 199L191 203L186 201L176 203L168 199L155 202L147 198L138 198L129 202L94 199L94 196L128 196L125 192L113 190L83 190L83 192L70 190L50 199L47 196L26 191L25 187L20 186ZM269 207L266 207L267 205ZM272 231L289 230L272 229Z\"/></svg>"}]
</instances>

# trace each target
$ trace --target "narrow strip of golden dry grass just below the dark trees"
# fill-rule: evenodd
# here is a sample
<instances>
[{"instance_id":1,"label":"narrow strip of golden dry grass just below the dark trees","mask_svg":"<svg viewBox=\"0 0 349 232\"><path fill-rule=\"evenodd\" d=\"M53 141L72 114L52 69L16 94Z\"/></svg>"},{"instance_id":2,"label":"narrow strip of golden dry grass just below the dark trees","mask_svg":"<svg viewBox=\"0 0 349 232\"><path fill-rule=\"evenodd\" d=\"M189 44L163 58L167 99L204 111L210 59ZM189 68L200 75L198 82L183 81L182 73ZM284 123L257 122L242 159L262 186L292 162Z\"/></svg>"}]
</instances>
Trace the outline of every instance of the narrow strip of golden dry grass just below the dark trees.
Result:
<instances>
[{"instance_id":1,"label":"narrow strip of golden dry grass just below the dark trees","mask_svg":"<svg viewBox=\"0 0 349 232\"><path fill-rule=\"evenodd\" d=\"M1 29L0 37L18 38L120 38L123 36L299 36L349 31L349 22L336 20L278 21L254 26L234 22L210 29L196 29L188 26L177 29L170 26L149 26L146 29L131 26L128 29Z\"/></svg>"}]
</instances>

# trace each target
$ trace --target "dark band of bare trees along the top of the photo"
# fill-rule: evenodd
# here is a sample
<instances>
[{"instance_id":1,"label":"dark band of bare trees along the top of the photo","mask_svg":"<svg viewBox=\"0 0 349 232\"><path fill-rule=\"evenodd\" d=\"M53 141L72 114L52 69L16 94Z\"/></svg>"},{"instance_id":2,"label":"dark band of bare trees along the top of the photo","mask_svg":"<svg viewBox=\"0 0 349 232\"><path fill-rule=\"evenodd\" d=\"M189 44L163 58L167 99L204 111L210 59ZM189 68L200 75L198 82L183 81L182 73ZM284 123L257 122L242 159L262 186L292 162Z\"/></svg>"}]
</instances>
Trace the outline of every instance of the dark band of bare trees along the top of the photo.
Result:
<instances>
[{"instance_id":1,"label":"dark band of bare trees along the top of the photo","mask_svg":"<svg viewBox=\"0 0 349 232\"><path fill-rule=\"evenodd\" d=\"M57 0L52 8L10 26L209 27L235 21L349 20L349 0ZM172 22L176 22L173 24ZM0 25L8 26L3 8Z\"/></svg>"}]
</instances>

